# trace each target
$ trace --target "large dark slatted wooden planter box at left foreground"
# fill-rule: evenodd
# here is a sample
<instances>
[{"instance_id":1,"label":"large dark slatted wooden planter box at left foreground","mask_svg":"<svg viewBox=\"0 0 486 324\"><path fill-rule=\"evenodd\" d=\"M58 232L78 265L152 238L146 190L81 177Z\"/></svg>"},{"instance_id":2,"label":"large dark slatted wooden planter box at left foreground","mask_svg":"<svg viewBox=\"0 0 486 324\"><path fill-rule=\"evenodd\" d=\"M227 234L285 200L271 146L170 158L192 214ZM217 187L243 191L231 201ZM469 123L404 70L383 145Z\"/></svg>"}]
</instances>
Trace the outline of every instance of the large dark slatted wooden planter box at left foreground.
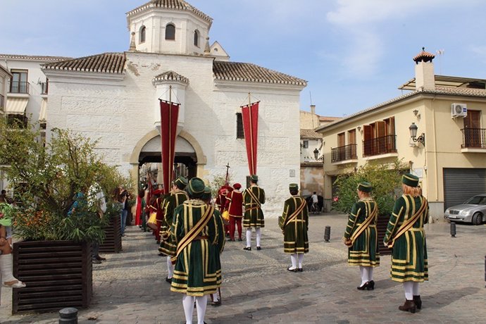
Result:
<instances>
[{"instance_id":1,"label":"large dark slatted wooden planter box at left foreground","mask_svg":"<svg viewBox=\"0 0 486 324\"><path fill-rule=\"evenodd\" d=\"M87 308L93 292L92 270L91 244L13 243L13 275L27 287L13 289L12 314Z\"/></svg>"}]
</instances>

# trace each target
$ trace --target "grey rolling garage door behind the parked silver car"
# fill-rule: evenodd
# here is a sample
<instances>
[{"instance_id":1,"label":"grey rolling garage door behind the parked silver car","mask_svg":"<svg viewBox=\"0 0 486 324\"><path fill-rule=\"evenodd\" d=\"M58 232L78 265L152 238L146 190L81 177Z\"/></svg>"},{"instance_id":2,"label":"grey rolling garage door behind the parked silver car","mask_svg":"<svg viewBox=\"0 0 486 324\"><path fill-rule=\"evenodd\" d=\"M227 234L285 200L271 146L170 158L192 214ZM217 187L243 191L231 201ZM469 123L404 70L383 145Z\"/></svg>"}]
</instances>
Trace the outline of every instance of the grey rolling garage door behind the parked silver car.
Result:
<instances>
[{"instance_id":1,"label":"grey rolling garage door behind the parked silver car","mask_svg":"<svg viewBox=\"0 0 486 324\"><path fill-rule=\"evenodd\" d=\"M444 211L475 194L486 194L486 169L444 168Z\"/></svg>"}]
</instances>

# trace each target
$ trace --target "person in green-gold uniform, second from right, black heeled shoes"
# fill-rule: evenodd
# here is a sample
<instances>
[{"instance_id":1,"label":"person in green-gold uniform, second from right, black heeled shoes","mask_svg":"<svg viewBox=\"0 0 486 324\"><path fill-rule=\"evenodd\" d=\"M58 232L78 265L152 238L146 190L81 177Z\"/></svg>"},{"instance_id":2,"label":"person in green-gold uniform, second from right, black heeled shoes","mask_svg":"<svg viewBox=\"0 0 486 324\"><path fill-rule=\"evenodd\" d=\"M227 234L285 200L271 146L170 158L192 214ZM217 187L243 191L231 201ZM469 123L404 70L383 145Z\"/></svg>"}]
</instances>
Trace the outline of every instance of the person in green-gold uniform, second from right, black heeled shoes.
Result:
<instances>
[{"instance_id":1,"label":"person in green-gold uniform, second from right, black heeled shoes","mask_svg":"<svg viewBox=\"0 0 486 324\"><path fill-rule=\"evenodd\" d=\"M351 207L348 223L344 231L344 244L348 247L348 263L359 266L361 285L359 290L375 289L373 270L380 266L378 251L378 206L370 192L373 189L369 182L361 182L356 188L359 201Z\"/></svg>"}]
</instances>

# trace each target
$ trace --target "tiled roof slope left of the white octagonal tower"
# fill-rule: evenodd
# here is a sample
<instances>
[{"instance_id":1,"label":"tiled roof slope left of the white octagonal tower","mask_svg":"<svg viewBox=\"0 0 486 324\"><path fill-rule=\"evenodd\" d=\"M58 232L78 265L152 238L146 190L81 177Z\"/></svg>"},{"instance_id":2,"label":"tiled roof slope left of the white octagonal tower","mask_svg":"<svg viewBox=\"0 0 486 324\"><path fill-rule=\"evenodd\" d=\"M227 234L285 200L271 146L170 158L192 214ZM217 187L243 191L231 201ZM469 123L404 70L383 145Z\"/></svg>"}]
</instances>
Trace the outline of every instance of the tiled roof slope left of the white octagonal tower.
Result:
<instances>
[{"instance_id":1,"label":"tiled roof slope left of the white octagonal tower","mask_svg":"<svg viewBox=\"0 0 486 324\"><path fill-rule=\"evenodd\" d=\"M104 53L56 63L46 63L42 65L42 68L45 70L121 74L125 69L125 61L124 53Z\"/></svg>"}]
</instances>

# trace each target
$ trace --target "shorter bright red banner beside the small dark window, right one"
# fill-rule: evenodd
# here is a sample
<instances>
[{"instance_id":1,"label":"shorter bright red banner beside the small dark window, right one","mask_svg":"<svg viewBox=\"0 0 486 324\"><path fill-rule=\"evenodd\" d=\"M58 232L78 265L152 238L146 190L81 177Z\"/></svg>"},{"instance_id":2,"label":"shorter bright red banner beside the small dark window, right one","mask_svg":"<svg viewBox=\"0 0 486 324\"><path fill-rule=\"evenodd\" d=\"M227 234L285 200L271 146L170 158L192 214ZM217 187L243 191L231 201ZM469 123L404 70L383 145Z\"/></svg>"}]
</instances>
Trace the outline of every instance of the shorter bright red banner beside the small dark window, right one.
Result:
<instances>
[{"instance_id":1,"label":"shorter bright red banner beside the small dark window, right one","mask_svg":"<svg viewBox=\"0 0 486 324\"><path fill-rule=\"evenodd\" d=\"M244 141L247 144L250 175L256 175L256 149L258 144L258 102L242 106Z\"/></svg>"}]
</instances>

